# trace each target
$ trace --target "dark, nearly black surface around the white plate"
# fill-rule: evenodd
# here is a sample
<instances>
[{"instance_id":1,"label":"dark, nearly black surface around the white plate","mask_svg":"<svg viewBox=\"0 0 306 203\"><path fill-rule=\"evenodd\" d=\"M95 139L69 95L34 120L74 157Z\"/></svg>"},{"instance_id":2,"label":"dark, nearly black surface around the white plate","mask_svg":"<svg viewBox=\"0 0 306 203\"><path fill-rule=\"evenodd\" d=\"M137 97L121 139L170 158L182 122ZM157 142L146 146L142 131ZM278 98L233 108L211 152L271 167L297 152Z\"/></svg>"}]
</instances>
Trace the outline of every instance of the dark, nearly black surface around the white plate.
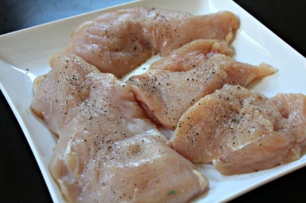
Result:
<instances>
[{"instance_id":1,"label":"dark, nearly black surface around the white plate","mask_svg":"<svg viewBox=\"0 0 306 203\"><path fill-rule=\"evenodd\" d=\"M0 34L126 1L0 0ZM235 1L294 49L306 55L305 0ZM2 93L0 114L0 202L51 202L31 148ZM306 167L233 201L305 202L305 188Z\"/></svg>"}]
</instances>

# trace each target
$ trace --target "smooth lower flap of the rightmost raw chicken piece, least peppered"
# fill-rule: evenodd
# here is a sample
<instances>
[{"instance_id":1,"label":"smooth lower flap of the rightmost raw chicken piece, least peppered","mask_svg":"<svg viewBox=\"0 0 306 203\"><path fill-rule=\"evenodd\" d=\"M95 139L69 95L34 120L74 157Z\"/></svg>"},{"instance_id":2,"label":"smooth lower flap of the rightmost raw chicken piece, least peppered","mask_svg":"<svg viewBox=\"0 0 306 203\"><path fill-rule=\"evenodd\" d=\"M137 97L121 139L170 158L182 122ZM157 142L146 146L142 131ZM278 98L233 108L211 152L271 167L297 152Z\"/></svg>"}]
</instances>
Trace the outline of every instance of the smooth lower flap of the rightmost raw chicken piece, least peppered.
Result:
<instances>
[{"instance_id":1,"label":"smooth lower flap of the rightmost raw chicken piece, least peppered","mask_svg":"<svg viewBox=\"0 0 306 203\"><path fill-rule=\"evenodd\" d=\"M306 151L306 96L279 93L272 97L282 119L276 132L265 134L233 152L227 152L214 166L223 174L252 172L300 158Z\"/></svg>"}]
</instances>

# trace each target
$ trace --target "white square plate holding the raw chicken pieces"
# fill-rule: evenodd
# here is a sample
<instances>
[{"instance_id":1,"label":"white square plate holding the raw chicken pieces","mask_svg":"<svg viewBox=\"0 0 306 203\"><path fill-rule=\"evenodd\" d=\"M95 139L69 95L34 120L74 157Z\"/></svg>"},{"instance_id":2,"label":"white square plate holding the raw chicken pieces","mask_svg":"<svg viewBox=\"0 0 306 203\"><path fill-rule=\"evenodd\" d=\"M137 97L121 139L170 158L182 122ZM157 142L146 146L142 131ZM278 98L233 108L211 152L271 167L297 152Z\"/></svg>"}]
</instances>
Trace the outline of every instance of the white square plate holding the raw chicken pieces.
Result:
<instances>
[{"instance_id":1,"label":"white square plate holding the raw chicken pieces","mask_svg":"<svg viewBox=\"0 0 306 203\"><path fill-rule=\"evenodd\" d=\"M165 7L196 15L220 10L234 12L240 19L240 28L232 43L236 51L234 58L251 64L264 61L279 70L255 83L252 89L267 96L273 96L277 92L306 94L305 57L231 0L134 1L1 35L0 87L25 133L55 202L64 201L48 171L56 138L46 125L29 111L33 98L33 80L48 72L50 55L68 42L70 33L79 24L94 19L102 12L135 6ZM232 176L221 175L210 164L198 165L209 178L210 189L194 201L227 201L305 165L304 155L299 160L275 168Z\"/></svg>"}]
</instances>

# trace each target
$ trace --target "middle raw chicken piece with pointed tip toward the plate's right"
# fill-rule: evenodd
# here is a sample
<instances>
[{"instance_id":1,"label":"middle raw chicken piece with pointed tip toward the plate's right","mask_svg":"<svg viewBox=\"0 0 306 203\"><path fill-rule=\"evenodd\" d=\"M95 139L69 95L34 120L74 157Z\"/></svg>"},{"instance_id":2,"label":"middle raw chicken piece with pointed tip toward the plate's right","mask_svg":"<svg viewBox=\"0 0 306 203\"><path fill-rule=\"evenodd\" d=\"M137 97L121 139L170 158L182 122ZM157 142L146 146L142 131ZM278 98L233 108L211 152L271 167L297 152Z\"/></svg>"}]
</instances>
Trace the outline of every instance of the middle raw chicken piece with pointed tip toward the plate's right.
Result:
<instances>
[{"instance_id":1,"label":"middle raw chicken piece with pointed tip toward the plate's right","mask_svg":"<svg viewBox=\"0 0 306 203\"><path fill-rule=\"evenodd\" d=\"M142 75L132 76L136 99L150 118L175 129L181 115L201 97L225 83L246 86L275 72L267 64L253 66L233 60L226 42L199 39L153 63Z\"/></svg>"}]
</instances>

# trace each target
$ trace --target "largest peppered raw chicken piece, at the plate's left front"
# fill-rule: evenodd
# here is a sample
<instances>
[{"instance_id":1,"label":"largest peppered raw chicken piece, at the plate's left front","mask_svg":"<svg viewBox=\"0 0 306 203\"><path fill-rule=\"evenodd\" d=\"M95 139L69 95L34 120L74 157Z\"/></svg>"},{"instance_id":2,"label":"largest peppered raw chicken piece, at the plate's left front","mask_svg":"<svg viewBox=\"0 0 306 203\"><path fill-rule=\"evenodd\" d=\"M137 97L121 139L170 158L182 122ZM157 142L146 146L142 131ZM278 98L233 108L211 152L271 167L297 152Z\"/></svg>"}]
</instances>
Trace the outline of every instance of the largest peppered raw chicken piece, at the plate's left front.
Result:
<instances>
[{"instance_id":1,"label":"largest peppered raw chicken piece, at the plate's left front","mask_svg":"<svg viewBox=\"0 0 306 203\"><path fill-rule=\"evenodd\" d=\"M67 201L185 202L207 188L144 117L129 85L77 56L53 64L31 106L59 135L49 169Z\"/></svg>"}]
</instances>

